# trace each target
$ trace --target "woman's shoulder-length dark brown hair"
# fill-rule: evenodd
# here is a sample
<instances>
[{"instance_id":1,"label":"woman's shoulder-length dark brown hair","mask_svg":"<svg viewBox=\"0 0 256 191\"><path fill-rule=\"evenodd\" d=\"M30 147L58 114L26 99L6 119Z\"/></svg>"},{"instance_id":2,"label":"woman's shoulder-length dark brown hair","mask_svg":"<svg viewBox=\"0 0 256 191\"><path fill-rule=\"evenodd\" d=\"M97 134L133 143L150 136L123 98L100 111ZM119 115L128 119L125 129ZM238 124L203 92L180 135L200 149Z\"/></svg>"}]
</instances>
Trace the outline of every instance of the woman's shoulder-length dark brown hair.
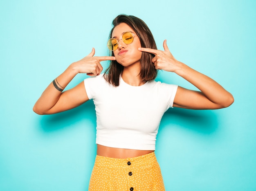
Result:
<instances>
[{"instance_id":1,"label":"woman's shoulder-length dark brown hair","mask_svg":"<svg viewBox=\"0 0 256 191\"><path fill-rule=\"evenodd\" d=\"M154 37L146 23L132 15L118 15L112 22L113 28L110 31L109 38L112 37L112 32L115 27L121 23L128 24L128 26L130 26L135 31L139 37L142 48L157 49ZM114 56L114 53L112 52L110 55ZM152 58L154 56L155 55L153 54L142 52L140 59L141 71L139 75L143 81L154 80L157 77L157 70L155 69L155 66L152 62ZM113 86L119 86L119 77L123 72L123 69L124 66L119 64L116 60L112 60L110 61L110 65L104 73L104 78Z\"/></svg>"}]
</instances>

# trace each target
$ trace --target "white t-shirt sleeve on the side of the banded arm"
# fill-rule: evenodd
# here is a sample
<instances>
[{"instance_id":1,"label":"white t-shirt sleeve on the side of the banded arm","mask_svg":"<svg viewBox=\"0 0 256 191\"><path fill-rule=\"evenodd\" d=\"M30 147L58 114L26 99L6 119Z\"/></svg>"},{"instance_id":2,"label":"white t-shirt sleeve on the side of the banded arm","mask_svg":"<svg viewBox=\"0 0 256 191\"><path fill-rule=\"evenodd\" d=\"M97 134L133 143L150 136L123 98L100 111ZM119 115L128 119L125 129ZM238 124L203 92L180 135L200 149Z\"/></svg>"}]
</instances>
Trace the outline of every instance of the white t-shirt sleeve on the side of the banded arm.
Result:
<instances>
[{"instance_id":1,"label":"white t-shirt sleeve on the side of the banded arm","mask_svg":"<svg viewBox=\"0 0 256 191\"><path fill-rule=\"evenodd\" d=\"M85 86L86 94L89 99L93 99L95 95L97 95L97 89L99 89L102 79L103 79L102 74L84 79L84 86Z\"/></svg>"}]
</instances>

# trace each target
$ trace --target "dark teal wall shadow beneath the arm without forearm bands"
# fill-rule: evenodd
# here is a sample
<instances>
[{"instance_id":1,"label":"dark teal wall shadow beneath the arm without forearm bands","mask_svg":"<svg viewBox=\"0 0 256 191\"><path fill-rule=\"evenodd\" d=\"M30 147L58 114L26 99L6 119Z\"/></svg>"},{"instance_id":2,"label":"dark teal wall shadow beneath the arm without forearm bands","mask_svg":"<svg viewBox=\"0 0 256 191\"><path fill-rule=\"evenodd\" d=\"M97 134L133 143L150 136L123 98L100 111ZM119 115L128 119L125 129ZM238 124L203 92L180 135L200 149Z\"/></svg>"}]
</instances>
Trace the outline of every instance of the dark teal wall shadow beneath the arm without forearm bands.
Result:
<instances>
[{"instance_id":1,"label":"dark teal wall shadow beneath the arm without forearm bands","mask_svg":"<svg viewBox=\"0 0 256 191\"><path fill-rule=\"evenodd\" d=\"M170 108L164 114L159 130L169 128L169 125L178 125L197 133L212 134L218 128L218 117L215 110Z\"/></svg>"}]
</instances>

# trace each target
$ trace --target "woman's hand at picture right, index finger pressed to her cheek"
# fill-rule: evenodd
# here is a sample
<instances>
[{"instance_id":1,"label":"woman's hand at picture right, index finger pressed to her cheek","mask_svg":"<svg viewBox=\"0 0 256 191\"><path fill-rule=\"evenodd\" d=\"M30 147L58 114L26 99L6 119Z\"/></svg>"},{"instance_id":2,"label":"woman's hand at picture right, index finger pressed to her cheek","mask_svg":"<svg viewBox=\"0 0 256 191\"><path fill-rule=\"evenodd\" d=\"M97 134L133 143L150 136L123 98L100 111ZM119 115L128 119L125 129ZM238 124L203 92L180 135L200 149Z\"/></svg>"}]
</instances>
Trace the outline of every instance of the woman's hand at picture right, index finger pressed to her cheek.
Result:
<instances>
[{"instance_id":1,"label":"woman's hand at picture right, index finger pressed to her cheek","mask_svg":"<svg viewBox=\"0 0 256 191\"><path fill-rule=\"evenodd\" d=\"M171 54L166 40L164 40L164 51L156 50L152 48L139 48L140 51L154 54L155 57L152 59L155 69L165 70L168 72L175 72L180 68L180 62L177 61Z\"/></svg>"}]
</instances>

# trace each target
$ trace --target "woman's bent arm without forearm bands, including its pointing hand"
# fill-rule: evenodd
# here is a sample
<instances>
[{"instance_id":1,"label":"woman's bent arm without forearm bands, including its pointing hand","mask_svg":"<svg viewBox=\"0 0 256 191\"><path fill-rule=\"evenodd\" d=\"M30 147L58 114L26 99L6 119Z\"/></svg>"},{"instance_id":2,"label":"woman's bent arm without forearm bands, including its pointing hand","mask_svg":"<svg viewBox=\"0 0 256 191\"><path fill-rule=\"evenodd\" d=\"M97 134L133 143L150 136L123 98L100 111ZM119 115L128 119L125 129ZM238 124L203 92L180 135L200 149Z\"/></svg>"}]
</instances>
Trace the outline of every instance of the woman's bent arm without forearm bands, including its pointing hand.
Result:
<instances>
[{"instance_id":1,"label":"woman's bent arm without forearm bands, including its pointing hand","mask_svg":"<svg viewBox=\"0 0 256 191\"><path fill-rule=\"evenodd\" d=\"M155 54L152 61L156 69L175 72L200 90L193 91L179 86L173 103L174 107L219 109L228 107L234 102L233 96L216 81L177 61L169 51L166 40L164 40L164 51L150 48L139 48L139 50Z\"/></svg>"}]
</instances>

